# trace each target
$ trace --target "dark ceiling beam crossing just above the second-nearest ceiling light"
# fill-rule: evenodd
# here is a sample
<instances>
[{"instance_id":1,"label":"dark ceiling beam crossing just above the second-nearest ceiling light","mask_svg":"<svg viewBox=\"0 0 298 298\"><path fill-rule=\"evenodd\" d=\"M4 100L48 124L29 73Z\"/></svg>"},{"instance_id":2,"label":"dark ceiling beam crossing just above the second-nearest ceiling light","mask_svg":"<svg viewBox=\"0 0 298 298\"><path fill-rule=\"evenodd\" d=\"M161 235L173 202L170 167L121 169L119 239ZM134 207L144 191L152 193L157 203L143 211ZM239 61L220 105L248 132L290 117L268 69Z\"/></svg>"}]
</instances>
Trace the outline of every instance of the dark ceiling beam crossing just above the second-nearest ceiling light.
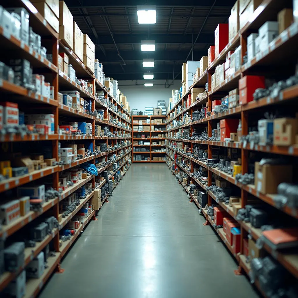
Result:
<instances>
[{"instance_id":1,"label":"dark ceiling beam crossing just above the second-nearest ceiling light","mask_svg":"<svg viewBox=\"0 0 298 298\"><path fill-rule=\"evenodd\" d=\"M113 34L117 44L140 44L142 40L148 39L148 34ZM100 35L100 44L114 44L111 35ZM192 35L180 34L151 34L150 40L155 40L155 44L192 44ZM214 34L201 34L196 44L214 43Z\"/></svg>"}]
</instances>

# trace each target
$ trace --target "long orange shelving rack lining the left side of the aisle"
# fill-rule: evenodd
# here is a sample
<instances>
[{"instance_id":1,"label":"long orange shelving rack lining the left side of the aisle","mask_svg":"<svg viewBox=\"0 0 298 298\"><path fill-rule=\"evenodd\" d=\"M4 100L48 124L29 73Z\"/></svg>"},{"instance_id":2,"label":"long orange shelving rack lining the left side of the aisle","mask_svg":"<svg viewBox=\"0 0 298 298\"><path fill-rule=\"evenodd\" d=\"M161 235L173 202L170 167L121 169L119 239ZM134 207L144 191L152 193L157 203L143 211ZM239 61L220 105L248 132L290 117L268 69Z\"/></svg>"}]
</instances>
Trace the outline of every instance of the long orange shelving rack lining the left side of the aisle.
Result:
<instances>
[{"instance_id":1,"label":"long orange shelving rack lining the left side of the aisle","mask_svg":"<svg viewBox=\"0 0 298 298\"><path fill-rule=\"evenodd\" d=\"M59 142L63 144L69 143L80 143L89 145L95 149L96 145L106 143L110 147L116 146L115 149L101 152L98 155L91 155L83 159L79 159L71 164L56 165L56 166L47 166L41 170L35 170L29 174L19 177L12 177L10 179L4 179L0 181L0 192L3 195L4 192L11 191L11 195L14 195L15 190L19 186L24 186L27 183L36 183L39 182L42 184L43 181L46 183L52 184L51 186L54 189L58 189L59 185L59 173L69 168L75 167L77 165L89 162L95 164L97 158L104 158L105 161L108 161L108 157L111 155L116 155L116 159L113 161L119 162L119 167L117 170L113 170L113 163L107 164L105 167L98 169L98 174L102 173L104 170L108 170L109 179L117 173L117 171L122 170L122 177L125 175L131 164L131 117L127 110L125 110L122 105L120 105L111 94L106 91L105 87L95 78L94 74L89 72L84 64L77 58L77 56L68 49L63 43L59 40L59 34L49 26L46 20L42 15L36 12L35 7L27 0L15 0L13 3L9 3L9 6L14 7L24 7L30 14L29 24L32 27L33 31L41 35L41 43L43 46L46 46L47 52L52 53L52 63L47 59L41 57L37 52L32 50L31 47L24 44L24 42L14 38L11 35L8 35L5 32L5 29L0 27L0 41L2 44L2 54L5 51L5 56L10 58L24 58L30 61L31 66L33 67L33 73L42 74L46 78L46 82L50 82L51 86L54 87L54 99L43 97L39 94L35 94L32 91L22 87L17 86L14 83L10 83L7 80L0 79L0 91L2 95L2 101L9 101L17 103L21 111L32 113L32 111L45 112L54 114L55 119L55 133L51 135L40 135L40 134L30 134L26 135L23 138L18 134L9 134L1 135L2 143L2 152L13 152L13 150L18 150L18 146L32 148L30 152L35 152L34 149L47 146L52 151L52 158L58 160L58 148ZM69 63L72 64L73 68L76 71L77 77L88 80L88 82L93 84L93 94L96 94L95 90L103 91L105 102L100 101L93 94L90 94L81 86L79 86L74 81L70 80L63 72L58 70L58 53L65 52L69 56ZM70 108L66 105L58 103L58 91L60 90L77 90L80 92L80 97L91 99L92 111L94 109L103 109L104 110L104 119L117 118L120 122L125 124L124 128L122 126L113 124L108 120L99 120L89 114L77 111L73 108ZM59 134L58 123L63 120L68 121L85 121L92 124L92 136L83 136L83 135L65 135ZM108 130L114 134L113 137L107 136L94 136L95 125L104 125L108 126ZM124 141L123 144L121 141ZM27 143L29 142L29 143ZM6 243L11 243L12 241L17 241L18 237L23 239L22 236L18 236L18 233L21 232L21 229L27 226L27 224L32 223L32 221L39 220L40 216L55 216L59 219L59 202L66 198L68 195L74 193L77 189L82 187L87 182L92 183L92 187L95 187L95 176L89 175L86 179L81 179L75 183L72 187L68 187L64 190L60 197L49 200L42 205L42 210L40 211L30 211L25 216L21 216L16 219L9 225L2 225L0 230L0 237L2 241ZM100 187L104 185L106 180L100 184ZM114 184L113 189L117 183ZM80 205L77 206L75 211L71 212L69 216L63 218L59 222L59 229L54 228L52 233L47 235L44 240L41 242L36 242L35 247L25 248L24 255L24 265L21 268L18 268L15 272L4 272L0 275L0 292L2 292L7 285L13 281L18 274L30 263L30 261L36 257L46 246L51 243L51 246L54 248L53 256L48 257L47 259L47 268L45 268L44 273L40 278L27 278L26 280L26 294L25 297L36 297L46 283L51 274L55 269L59 269L59 264L61 258L72 246L80 232L85 228L88 222L93 218L95 210L86 217L79 228L75 230L75 234L65 242L59 243L59 230L62 229L71 218L83 207L83 205L88 202L94 195L94 191L91 194L87 195L83 201L80 201ZM102 201L103 204L107 201L107 197Z\"/></svg>"}]
</instances>

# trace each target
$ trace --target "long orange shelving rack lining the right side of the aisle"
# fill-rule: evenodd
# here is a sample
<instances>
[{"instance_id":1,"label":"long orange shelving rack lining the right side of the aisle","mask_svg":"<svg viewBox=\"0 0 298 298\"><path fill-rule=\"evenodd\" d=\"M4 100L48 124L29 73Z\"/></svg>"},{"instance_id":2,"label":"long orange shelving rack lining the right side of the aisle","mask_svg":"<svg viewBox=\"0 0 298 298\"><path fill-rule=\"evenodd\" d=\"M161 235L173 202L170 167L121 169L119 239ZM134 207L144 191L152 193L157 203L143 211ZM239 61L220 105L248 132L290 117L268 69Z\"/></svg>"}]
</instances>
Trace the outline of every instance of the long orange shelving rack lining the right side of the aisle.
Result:
<instances>
[{"instance_id":1,"label":"long orange shelving rack lining the right side of the aisle","mask_svg":"<svg viewBox=\"0 0 298 298\"><path fill-rule=\"evenodd\" d=\"M297 44L298 41L298 23L294 22L288 29L282 32L274 41L271 42L268 50L258 54L250 62L242 65L241 69L234 73L234 75L225 79L224 82L216 86L214 89L211 89L211 75L215 72L215 67L225 61L226 53L230 50L234 50L237 46L241 45L241 57L246 55L246 39L252 32L257 32L258 28L263 25L268 20L276 20L277 13L285 8L285 5L291 7L291 3L285 4L282 1L278 0L264 0L260 7L254 11L252 16L249 19L249 22L243 27L243 29L238 32L235 38L229 42L225 49L219 54L215 60L209 64L208 68L204 71L203 74L198 78L195 83L190 87L190 89L179 99L175 106L167 114L167 164L173 174L179 173L179 171L185 172L191 181L191 183L198 186L198 190L207 191L207 186L212 184L212 176L217 175L221 179L229 181L229 183L234 188L238 188L239 196L241 197L241 208L244 208L247 205L247 201L250 198L257 198L260 201L265 202L272 207L276 207L274 201L275 195L271 194L262 194L256 190L255 186L252 184L244 185L236 181L231 175L218 170L218 168L208 167L207 163L201 162L198 159L190 157L177 147L177 142L182 142L182 148L185 146L190 147L190 152L193 152L193 147L195 144L200 144L203 149L208 150L208 158L212 159L212 148L233 148L237 149L238 153L241 152L241 162L242 162L242 174L248 173L249 171L249 159L251 154L258 155L262 157L286 157L290 158L295 162L295 159L298 156L298 147L297 145L292 146L276 146L276 145L266 145L260 146L257 144L243 144L241 142L216 142L209 140L190 140L190 139L181 139L176 137L176 133L179 129L189 129L189 136L192 135L194 129L198 128L199 131L204 131L204 128L207 128L208 137L212 136L212 129L216 128L216 122L224 118L237 118L241 119L242 122L242 135L245 136L249 133L249 127L252 125L257 125L257 120L263 117L264 112L266 111L277 111L281 109L288 111L292 108L293 111L297 111L296 101L298 97L298 85L294 85L279 91L278 94L274 97L266 96L257 101L249 102L245 105L238 105L235 108L231 108L228 111L219 114L213 114L204 119L199 119L194 122L189 122L187 124L182 124L179 127L171 127L169 124L173 119L176 119L186 113L192 113L197 110L198 105L206 103L207 111L211 112L212 100L221 99L226 96L229 91L238 88L238 80L245 75L264 75L266 78L275 78L278 80L286 79L289 76L294 75L295 65L297 63L297 52L294 52L293 44ZM297 70L296 70L297 72ZM175 116L170 116L170 113L173 113L178 105L184 106L184 103L187 101L188 94L190 94L192 88L205 87L207 83L208 92L205 97L197 100L195 103L191 104L189 107L184 108L183 111L176 114ZM290 109L289 109L290 108ZM292 114L293 113L288 113ZM182 167L180 164L176 163L176 158L181 156L182 159L188 159L190 162L190 171L186 170L185 167ZM206 184L203 184L198 179L192 177L194 168L203 167L207 170L208 180ZM213 180L214 181L214 180ZM179 180L182 184L182 181ZM183 185L185 187L185 185ZM200 206L198 200L193 194L190 193L190 187L186 188L187 193L190 194L191 201L193 201L202 211L202 214L206 218L206 223L213 226L214 221L209 215L207 215L207 210L205 206ZM229 204L224 204L216 199L215 195L207 191L208 193L208 206L211 206L212 203L220 205L232 218L236 220L236 215L233 208L229 207ZM216 202L216 203L215 203ZM280 208L280 213L283 216L288 216L290 220L298 219L298 209L290 208L288 206ZM237 221L237 220L236 220ZM244 221L238 221L240 224L241 230L241 246L240 253L234 254L232 246L229 244L226 238L226 234L223 232L222 228L215 229L215 232L222 239L226 248L231 252L235 257L236 262L239 264L240 271L244 271L246 274L251 273L250 264L246 261L246 256L243 252L243 239L247 239L248 236L253 240L257 240L262 236L261 229L254 228L250 223ZM297 221L296 221L297 224ZM287 251L287 250L273 250L267 244L263 247L264 253L271 255L276 259L284 268L292 275L293 279L298 278L298 254L297 252ZM255 285L261 291L261 293L266 296L262 291L258 280L256 280Z\"/></svg>"}]
</instances>

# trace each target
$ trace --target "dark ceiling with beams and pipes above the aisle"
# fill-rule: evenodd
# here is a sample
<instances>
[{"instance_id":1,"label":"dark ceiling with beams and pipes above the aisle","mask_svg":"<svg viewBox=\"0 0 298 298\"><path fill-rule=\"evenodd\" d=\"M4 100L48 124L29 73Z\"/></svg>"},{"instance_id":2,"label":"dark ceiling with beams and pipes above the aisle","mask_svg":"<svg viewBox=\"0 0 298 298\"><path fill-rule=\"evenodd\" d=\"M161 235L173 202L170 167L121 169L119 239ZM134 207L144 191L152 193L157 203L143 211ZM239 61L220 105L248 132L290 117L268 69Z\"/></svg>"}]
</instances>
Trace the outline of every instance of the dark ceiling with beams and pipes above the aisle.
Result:
<instances>
[{"instance_id":1,"label":"dark ceiling with beams and pipes above the aisle","mask_svg":"<svg viewBox=\"0 0 298 298\"><path fill-rule=\"evenodd\" d=\"M66 0L83 33L95 44L106 77L140 80L143 58L154 58L154 79L181 79L181 64L208 55L218 23L228 21L235 0L129 1ZM108 5L107 5L108 3ZM137 5L156 5L156 24L139 24ZM142 40L155 40L155 52L141 52ZM188 57L188 58L187 58Z\"/></svg>"}]
</instances>

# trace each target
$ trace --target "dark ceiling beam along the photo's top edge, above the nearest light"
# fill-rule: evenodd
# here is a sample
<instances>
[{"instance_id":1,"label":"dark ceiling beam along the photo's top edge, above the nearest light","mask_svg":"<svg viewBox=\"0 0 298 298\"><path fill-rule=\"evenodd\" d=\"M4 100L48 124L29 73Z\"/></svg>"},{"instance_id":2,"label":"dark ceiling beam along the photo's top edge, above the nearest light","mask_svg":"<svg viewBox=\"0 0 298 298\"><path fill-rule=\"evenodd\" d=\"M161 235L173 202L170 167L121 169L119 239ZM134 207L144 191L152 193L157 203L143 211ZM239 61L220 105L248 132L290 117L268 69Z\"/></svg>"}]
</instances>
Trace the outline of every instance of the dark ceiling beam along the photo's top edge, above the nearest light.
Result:
<instances>
[{"instance_id":1,"label":"dark ceiling beam along the photo's top edge, above the nearest light","mask_svg":"<svg viewBox=\"0 0 298 298\"><path fill-rule=\"evenodd\" d=\"M177 7L206 7L212 5L212 0L204 0L200 1L200 5L198 5L197 0L148 0L146 1L146 5L156 5L156 6L177 6ZM66 0L66 4L69 8L78 8L80 6L79 1L74 0ZM218 0L217 6L233 6L235 4L235 0ZM83 7L90 8L100 8L100 7L111 7L111 6L119 6L119 7L135 7L140 5L139 0L131 0L129 1L129 5L124 4L123 0L113 0L113 1L102 1L102 0L84 0Z\"/></svg>"}]
</instances>

